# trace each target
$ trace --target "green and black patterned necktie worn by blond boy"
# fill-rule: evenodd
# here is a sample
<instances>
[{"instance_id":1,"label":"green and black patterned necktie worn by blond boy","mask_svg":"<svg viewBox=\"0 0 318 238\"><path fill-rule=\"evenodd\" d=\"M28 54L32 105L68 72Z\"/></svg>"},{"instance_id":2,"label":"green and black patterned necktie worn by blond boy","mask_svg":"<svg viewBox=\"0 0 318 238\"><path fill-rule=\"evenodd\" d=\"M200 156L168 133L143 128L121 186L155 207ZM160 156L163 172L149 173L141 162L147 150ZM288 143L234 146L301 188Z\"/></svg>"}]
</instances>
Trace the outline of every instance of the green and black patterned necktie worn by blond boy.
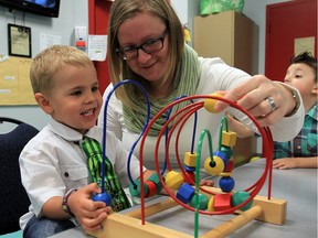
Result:
<instances>
[{"instance_id":1,"label":"green and black patterned necktie worn by blond boy","mask_svg":"<svg viewBox=\"0 0 318 238\"><path fill-rule=\"evenodd\" d=\"M81 149L87 155L87 164L91 174L91 181L102 186L102 147L100 143L92 138L85 138L80 143ZM112 197L112 208L114 212L119 212L130 207L130 203L121 187L117 177L114 166L109 159L105 156L105 177L104 177L105 192Z\"/></svg>"}]
</instances>

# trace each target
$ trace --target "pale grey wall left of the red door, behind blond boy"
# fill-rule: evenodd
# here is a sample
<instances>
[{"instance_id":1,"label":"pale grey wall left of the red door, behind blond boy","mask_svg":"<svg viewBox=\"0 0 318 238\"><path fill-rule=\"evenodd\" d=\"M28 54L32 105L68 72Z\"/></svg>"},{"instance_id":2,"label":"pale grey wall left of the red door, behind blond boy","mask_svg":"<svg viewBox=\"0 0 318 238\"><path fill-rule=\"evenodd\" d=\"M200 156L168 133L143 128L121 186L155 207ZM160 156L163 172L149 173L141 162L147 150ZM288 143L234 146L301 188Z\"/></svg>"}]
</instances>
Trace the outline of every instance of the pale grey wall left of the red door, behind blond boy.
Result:
<instances>
[{"instance_id":1,"label":"pale grey wall left of the red door, behind blond boy","mask_svg":"<svg viewBox=\"0 0 318 238\"><path fill-rule=\"evenodd\" d=\"M14 23L14 17L7 8L0 7L0 55L8 54L8 23ZM22 12L15 12L15 24L23 25ZM30 26L32 32L32 57L40 51L40 32L60 34L62 44L74 45L74 26L84 25L88 28L88 1L63 0L61 1L59 18L26 13L24 24ZM31 123L38 129L42 129L49 119L38 106L0 106L0 117L17 118ZM0 132L6 130L3 127L0 127Z\"/></svg>"}]
</instances>

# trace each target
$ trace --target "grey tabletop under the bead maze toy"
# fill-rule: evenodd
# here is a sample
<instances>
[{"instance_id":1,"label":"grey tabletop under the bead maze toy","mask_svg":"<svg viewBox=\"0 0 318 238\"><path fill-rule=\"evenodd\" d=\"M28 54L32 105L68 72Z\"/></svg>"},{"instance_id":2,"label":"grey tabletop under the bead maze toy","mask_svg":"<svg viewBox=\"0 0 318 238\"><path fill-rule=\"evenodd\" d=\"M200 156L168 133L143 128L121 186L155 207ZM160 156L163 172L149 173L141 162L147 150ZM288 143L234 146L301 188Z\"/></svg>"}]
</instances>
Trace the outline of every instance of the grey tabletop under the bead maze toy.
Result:
<instances>
[{"instance_id":1,"label":"grey tabletop under the bead maze toy","mask_svg":"<svg viewBox=\"0 0 318 238\"><path fill-rule=\"evenodd\" d=\"M245 190L252 185L263 173L265 160L244 164L234 170L235 191ZM215 181L218 184L218 181ZM267 196L267 182L258 195ZM299 238L317 237L317 169L273 170L272 197L287 201L287 218L284 225L273 225L258 220L252 220L237 229L230 237L262 237L262 238ZM147 205L157 203L166 197L157 197L147 202ZM137 206L138 207L138 206ZM136 207L125 210L125 213ZM208 232L233 218L233 215L206 216L200 215L199 236ZM147 223L182 231L193 236L194 214L181 206L146 218ZM66 230L54 238L91 237L83 232L81 227ZM136 237L131 234L130 237ZM139 238L139 237L138 237Z\"/></svg>"}]
</instances>

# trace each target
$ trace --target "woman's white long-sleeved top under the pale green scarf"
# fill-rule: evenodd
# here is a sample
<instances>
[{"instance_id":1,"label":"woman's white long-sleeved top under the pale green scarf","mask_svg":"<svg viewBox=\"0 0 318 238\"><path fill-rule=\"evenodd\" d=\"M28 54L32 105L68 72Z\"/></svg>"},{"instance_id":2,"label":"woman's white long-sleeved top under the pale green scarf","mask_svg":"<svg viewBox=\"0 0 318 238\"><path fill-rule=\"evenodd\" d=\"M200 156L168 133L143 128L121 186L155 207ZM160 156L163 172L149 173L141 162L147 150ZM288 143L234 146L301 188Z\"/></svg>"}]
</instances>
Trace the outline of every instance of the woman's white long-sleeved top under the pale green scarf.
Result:
<instances>
[{"instance_id":1,"label":"woman's white long-sleeved top under the pale green scarf","mask_svg":"<svg viewBox=\"0 0 318 238\"><path fill-rule=\"evenodd\" d=\"M201 76L199 86L197 88L195 95L210 95L214 91L220 90L229 90L242 84L243 82L251 78L248 74L245 72L231 67L226 65L221 58L203 58L199 57L199 62L201 64ZM182 83L181 83L182 84ZM104 108L105 101L109 93L113 90L114 86L110 84L105 93L104 93ZM275 126L271 127L273 138L276 141L287 141L294 138L298 131L301 129L303 120L304 120L304 110L303 107L299 107L298 111L293 115L292 117L283 118L279 122L275 123ZM98 118L98 126L103 127L104 125L104 112L103 110ZM233 111L231 111L233 112ZM235 112L234 112L235 113ZM197 137L195 137L195 150L197 152L197 144L201 131L208 129L211 132L212 141L213 141L213 151L218 149L219 144L219 130L220 130L220 122L223 113L211 113L208 112L204 108L198 111L198 128L197 128ZM129 131L124 122L123 117L123 108L121 101L117 99L115 94L112 95L109 98L109 102L107 106L107 130L115 132L117 138L123 141L124 147L127 150L130 150L131 145L136 142L139 134L132 133ZM293 126L292 126L293 125ZM292 126L292 127L290 127ZM192 141L192 131L193 131L193 116L186 122L182 128L180 139L179 139L179 158L181 163L183 162L183 154L184 152L191 151L191 141ZM177 166L176 160L176 134L172 137L170 147L169 147L169 159L171 162L171 166ZM155 148L157 143L157 137L147 137L145 141L144 152L142 152L142 161L144 165L148 169L155 167ZM158 158L159 161L165 159L165 137L161 138L161 142L159 143L159 152ZM138 142L137 147L135 148L135 155L140 159L139 154L139 145L140 141ZM208 140L204 139L203 141L203 149L201 160L204 162L206 156L210 154ZM160 167L161 167L160 162Z\"/></svg>"}]
</instances>

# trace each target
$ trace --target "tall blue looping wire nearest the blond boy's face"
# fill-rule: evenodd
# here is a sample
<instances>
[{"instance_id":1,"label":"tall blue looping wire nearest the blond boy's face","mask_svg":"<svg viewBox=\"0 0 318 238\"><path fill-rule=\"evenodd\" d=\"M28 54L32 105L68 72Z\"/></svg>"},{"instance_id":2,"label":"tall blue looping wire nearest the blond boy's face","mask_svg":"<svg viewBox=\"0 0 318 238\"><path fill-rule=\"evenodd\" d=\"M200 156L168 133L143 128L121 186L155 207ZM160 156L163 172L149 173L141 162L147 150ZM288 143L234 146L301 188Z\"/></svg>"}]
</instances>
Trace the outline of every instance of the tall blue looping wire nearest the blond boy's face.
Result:
<instances>
[{"instance_id":1,"label":"tall blue looping wire nearest the blond boy's face","mask_svg":"<svg viewBox=\"0 0 318 238\"><path fill-rule=\"evenodd\" d=\"M148 97L148 94L147 91L145 90L145 88L142 87L141 84L135 82L135 80L131 80L131 79L125 79L123 82L119 82L118 84L116 84L113 88L113 90L107 95L107 98L106 98L106 101L105 101L105 108L104 108L104 131L103 131L103 162L102 162L102 193L105 192L105 188L104 188L104 184L105 184L105 160L106 160L106 127L107 127L107 108L108 108L108 102L110 100L110 97L112 95L114 94L114 91L121 85L124 84L134 84L135 86L137 86L144 94L146 100L147 100L147 117L146 117L146 123L138 137L138 139L135 141L135 143L132 144L132 147L130 148L130 151L129 151L129 154L128 154L128 163L127 163L127 173L128 173L128 178L130 181L130 183L132 183L134 186L136 186L136 184L134 183L132 181L132 177L131 177L131 173L130 173L130 169L129 169L129 165L130 165L130 160L131 160L131 155L132 155L132 152L138 143L138 141L140 140L140 138L142 137L142 134L145 133L145 130L146 128L148 127L148 123L149 123L149 120L150 120L150 100L149 100L149 97ZM141 176L141 174L140 174Z\"/></svg>"}]
</instances>

